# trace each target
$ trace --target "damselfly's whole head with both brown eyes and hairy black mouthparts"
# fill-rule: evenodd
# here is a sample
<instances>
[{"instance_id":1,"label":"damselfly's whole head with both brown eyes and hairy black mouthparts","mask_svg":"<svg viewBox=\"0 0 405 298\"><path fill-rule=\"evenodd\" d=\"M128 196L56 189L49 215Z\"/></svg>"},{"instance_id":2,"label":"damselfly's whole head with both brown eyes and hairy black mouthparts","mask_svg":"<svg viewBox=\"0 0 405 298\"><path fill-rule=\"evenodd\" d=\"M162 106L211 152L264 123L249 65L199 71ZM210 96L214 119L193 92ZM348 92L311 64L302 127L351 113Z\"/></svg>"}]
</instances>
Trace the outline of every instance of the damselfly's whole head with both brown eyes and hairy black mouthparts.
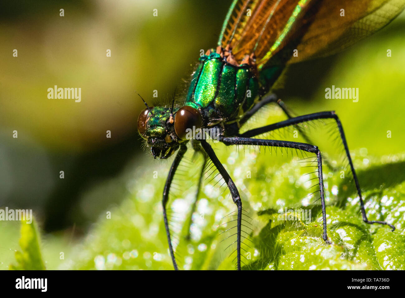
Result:
<instances>
[{"instance_id":1,"label":"damselfly's whole head with both brown eyes and hairy black mouthparts","mask_svg":"<svg viewBox=\"0 0 405 298\"><path fill-rule=\"evenodd\" d=\"M147 107L138 117L139 134L151 148L153 157L160 159L170 157L201 126L200 112L189 106L175 113L168 107Z\"/></svg>"}]
</instances>

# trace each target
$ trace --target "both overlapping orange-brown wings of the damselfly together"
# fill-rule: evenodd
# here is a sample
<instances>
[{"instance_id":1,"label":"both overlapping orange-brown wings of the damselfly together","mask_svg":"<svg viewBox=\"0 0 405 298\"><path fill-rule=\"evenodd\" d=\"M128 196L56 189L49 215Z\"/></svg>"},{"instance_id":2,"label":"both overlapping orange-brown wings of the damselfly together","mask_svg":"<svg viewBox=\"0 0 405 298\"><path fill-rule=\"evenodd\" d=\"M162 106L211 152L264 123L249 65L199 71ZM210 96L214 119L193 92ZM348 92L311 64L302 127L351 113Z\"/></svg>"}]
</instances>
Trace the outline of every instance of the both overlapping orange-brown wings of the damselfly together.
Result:
<instances>
[{"instance_id":1,"label":"both overlapping orange-brown wings of the damselfly together","mask_svg":"<svg viewBox=\"0 0 405 298\"><path fill-rule=\"evenodd\" d=\"M234 0L218 45L229 44L239 62L254 53L259 69L281 50L284 62L299 62L341 51L388 24L404 6L405 0Z\"/></svg>"}]
</instances>

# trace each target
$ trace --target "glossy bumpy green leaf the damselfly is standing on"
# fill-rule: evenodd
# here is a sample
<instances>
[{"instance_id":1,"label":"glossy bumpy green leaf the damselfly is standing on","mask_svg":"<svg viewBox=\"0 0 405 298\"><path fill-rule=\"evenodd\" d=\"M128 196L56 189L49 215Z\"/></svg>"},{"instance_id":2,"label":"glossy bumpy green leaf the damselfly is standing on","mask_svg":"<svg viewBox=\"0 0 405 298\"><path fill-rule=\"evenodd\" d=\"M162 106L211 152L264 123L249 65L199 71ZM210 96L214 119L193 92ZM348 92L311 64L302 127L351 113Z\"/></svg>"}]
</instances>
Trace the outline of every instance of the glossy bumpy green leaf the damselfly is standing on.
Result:
<instances>
[{"instance_id":1,"label":"glossy bumpy green leaf the damselfly is standing on","mask_svg":"<svg viewBox=\"0 0 405 298\"><path fill-rule=\"evenodd\" d=\"M242 269L404 269L405 259L401 252L405 249L405 177L392 169L401 167L405 154L381 158L367 155L368 162L364 163L361 152L352 152L367 217L394 224L397 228L394 232L388 226L364 223L353 189L345 187L346 182L339 175L324 173L327 232L332 242L326 244L322 240L320 206L305 206L296 199L307 191L304 184L297 183L302 173L296 170L300 168L296 158L291 160L288 157L290 161L286 162L284 157L280 165L276 163L280 156L261 157L262 154L258 154L252 159L253 153L245 153L246 156L243 157L242 153L236 162L233 160L234 152L217 150L220 160L225 161L224 165L240 189L246 214L252 217L252 220L248 220L252 223L252 238L244 239L250 248L245 247L246 251L242 251ZM197 172L198 162L194 165L184 170ZM131 195L121 206L107 210L111 211L111 219L105 215L100 217L85 242L74 249L71 259L65 260L61 268L173 269L161 209L167 165L154 163L153 166L145 165L139 169L144 175L126 178L128 181L134 179L132 187L129 187ZM245 169L251 170L254 178L246 178ZM158 171L157 179L152 178L155 170ZM376 178L373 173L382 176ZM196 182L192 174L184 175L188 177L184 181L190 180L191 184ZM229 250L225 248L235 240L235 236L232 236L233 233L221 236L220 225L228 222L222 227L232 228L233 218L222 218L236 209L226 193L221 195L213 190L215 181L206 184L201 190L193 216L192 229L197 236L192 233L190 240L186 237L190 208L181 209L173 216L178 219L171 226L172 239L177 243L177 262L180 269L232 270L236 254L229 255L234 246ZM172 206L183 206L189 202L187 197L191 201L194 197L195 189L182 187L181 184L178 187L185 191L183 196L171 199L169 203ZM332 188L338 192L337 195L332 194ZM283 210L284 206L310 208L312 222L280 220L279 210ZM203 217L200 214L202 210ZM248 224L245 223L245 226ZM226 238L224 235L233 238L222 242Z\"/></svg>"}]
</instances>

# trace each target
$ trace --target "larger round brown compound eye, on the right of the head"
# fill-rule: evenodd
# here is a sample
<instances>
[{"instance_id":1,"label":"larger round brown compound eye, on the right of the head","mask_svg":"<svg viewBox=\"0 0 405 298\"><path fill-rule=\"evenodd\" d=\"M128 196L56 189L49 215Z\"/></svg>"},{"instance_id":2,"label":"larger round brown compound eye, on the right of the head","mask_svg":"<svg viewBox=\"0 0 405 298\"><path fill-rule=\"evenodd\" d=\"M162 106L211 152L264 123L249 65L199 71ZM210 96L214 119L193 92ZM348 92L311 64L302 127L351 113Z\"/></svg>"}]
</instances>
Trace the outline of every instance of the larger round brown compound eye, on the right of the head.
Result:
<instances>
[{"instance_id":1,"label":"larger round brown compound eye, on the right of the head","mask_svg":"<svg viewBox=\"0 0 405 298\"><path fill-rule=\"evenodd\" d=\"M179 109L175 115L175 132L182 139L186 139L188 129L200 129L202 126L201 115L197 109L184 106Z\"/></svg>"}]
</instances>

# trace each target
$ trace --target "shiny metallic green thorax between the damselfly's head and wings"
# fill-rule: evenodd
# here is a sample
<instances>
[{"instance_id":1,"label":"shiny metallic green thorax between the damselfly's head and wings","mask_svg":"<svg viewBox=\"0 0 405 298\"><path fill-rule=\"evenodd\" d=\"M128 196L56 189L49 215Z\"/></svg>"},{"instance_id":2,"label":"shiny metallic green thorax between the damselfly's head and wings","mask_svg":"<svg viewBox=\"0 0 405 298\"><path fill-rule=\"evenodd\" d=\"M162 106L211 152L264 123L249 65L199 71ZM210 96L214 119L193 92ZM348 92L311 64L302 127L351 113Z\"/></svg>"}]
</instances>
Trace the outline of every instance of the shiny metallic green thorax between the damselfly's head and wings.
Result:
<instances>
[{"instance_id":1,"label":"shiny metallic green thorax between the damselfly's head and wings","mask_svg":"<svg viewBox=\"0 0 405 298\"><path fill-rule=\"evenodd\" d=\"M226 63L215 51L200 57L185 105L203 110L209 122L232 120L252 107L258 79L248 64Z\"/></svg>"}]
</instances>

